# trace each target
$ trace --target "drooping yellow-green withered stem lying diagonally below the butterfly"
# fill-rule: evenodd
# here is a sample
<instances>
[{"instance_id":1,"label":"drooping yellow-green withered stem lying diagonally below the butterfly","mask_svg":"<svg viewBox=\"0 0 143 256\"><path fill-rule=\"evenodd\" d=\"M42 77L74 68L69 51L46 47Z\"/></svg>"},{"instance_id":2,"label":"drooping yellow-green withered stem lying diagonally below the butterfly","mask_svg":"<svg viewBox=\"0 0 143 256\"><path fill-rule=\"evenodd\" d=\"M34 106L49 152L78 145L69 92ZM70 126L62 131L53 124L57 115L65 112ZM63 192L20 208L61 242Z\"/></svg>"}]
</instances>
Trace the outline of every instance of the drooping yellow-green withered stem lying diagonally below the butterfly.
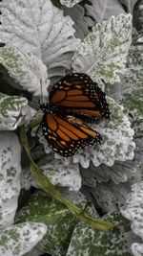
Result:
<instances>
[{"instance_id":1,"label":"drooping yellow-green withered stem lying diagonally below the butterfly","mask_svg":"<svg viewBox=\"0 0 143 256\"><path fill-rule=\"evenodd\" d=\"M74 203L72 203L69 199L64 198L61 195L61 193L51 183L50 179L46 175L42 174L42 171L33 161L31 157L31 151L28 145L26 130L24 127L20 129L20 140L31 161L31 175L33 175L36 183L39 185L39 187L41 187L41 189L49 193L51 197L57 199L58 201L66 205L67 208L72 212L72 214L78 220L84 221L88 225L92 226L93 229L107 230L107 229L111 229L114 226L113 223L110 221L93 219L91 216L89 216L87 213L85 213L83 210L77 207Z\"/></svg>"}]
</instances>

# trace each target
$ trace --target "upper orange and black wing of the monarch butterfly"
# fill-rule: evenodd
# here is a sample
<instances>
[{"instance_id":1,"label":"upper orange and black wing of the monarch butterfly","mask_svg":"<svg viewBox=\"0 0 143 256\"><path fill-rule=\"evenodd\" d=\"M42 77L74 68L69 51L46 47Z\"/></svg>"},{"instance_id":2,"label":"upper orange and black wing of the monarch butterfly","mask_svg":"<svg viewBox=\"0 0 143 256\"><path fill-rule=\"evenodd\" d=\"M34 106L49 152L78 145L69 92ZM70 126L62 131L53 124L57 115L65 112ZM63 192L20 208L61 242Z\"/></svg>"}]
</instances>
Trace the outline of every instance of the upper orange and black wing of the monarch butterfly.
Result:
<instances>
[{"instance_id":1,"label":"upper orange and black wing of the monarch butterfly","mask_svg":"<svg viewBox=\"0 0 143 256\"><path fill-rule=\"evenodd\" d=\"M50 103L64 107L84 122L110 118L105 93L86 74L73 73L55 83L50 92Z\"/></svg>"}]
</instances>

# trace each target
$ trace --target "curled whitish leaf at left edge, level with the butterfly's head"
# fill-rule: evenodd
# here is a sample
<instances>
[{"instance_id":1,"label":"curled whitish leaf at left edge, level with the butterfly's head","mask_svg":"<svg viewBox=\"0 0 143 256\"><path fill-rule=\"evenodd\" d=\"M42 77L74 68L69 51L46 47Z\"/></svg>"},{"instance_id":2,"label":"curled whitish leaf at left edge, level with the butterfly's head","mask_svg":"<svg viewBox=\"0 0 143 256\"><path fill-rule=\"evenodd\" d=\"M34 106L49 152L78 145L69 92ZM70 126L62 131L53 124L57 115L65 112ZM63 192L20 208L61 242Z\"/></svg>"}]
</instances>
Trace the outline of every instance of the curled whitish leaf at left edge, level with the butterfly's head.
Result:
<instances>
[{"instance_id":1,"label":"curled whitish leaf at left edge, level with the butterfly's head","mask_svg":"<svg viewBox=\"0 0 143 256\"><path fill-rule=\"evenodd\" d=\"M30 122L33 114L26 98L0 93L0 130L14 130Z\"/></svg>"}]
</instances>

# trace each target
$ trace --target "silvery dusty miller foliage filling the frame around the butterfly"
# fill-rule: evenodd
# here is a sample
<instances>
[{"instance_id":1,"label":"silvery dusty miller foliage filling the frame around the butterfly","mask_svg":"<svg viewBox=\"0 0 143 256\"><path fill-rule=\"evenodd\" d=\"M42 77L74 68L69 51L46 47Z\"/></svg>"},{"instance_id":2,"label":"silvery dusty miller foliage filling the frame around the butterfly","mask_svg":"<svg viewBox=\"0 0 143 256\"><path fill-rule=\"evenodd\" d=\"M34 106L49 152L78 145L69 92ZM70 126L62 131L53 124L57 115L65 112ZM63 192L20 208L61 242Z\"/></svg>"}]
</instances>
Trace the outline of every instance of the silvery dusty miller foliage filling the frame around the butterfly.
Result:
<instances>
[{"instance_id":1,"label":"silvery dusty miller foliage filling the frame around the butterfly","mask_svg":"<svg viewBox=\"0 0 143 256\"><path fill-rule=\"evenodd\" d=\"M41 86L70 72L111 120L64 158L36 130ZM0 1L0 255L143 255L142 82L143 1Z\"/></svg>"}]
</instances>

